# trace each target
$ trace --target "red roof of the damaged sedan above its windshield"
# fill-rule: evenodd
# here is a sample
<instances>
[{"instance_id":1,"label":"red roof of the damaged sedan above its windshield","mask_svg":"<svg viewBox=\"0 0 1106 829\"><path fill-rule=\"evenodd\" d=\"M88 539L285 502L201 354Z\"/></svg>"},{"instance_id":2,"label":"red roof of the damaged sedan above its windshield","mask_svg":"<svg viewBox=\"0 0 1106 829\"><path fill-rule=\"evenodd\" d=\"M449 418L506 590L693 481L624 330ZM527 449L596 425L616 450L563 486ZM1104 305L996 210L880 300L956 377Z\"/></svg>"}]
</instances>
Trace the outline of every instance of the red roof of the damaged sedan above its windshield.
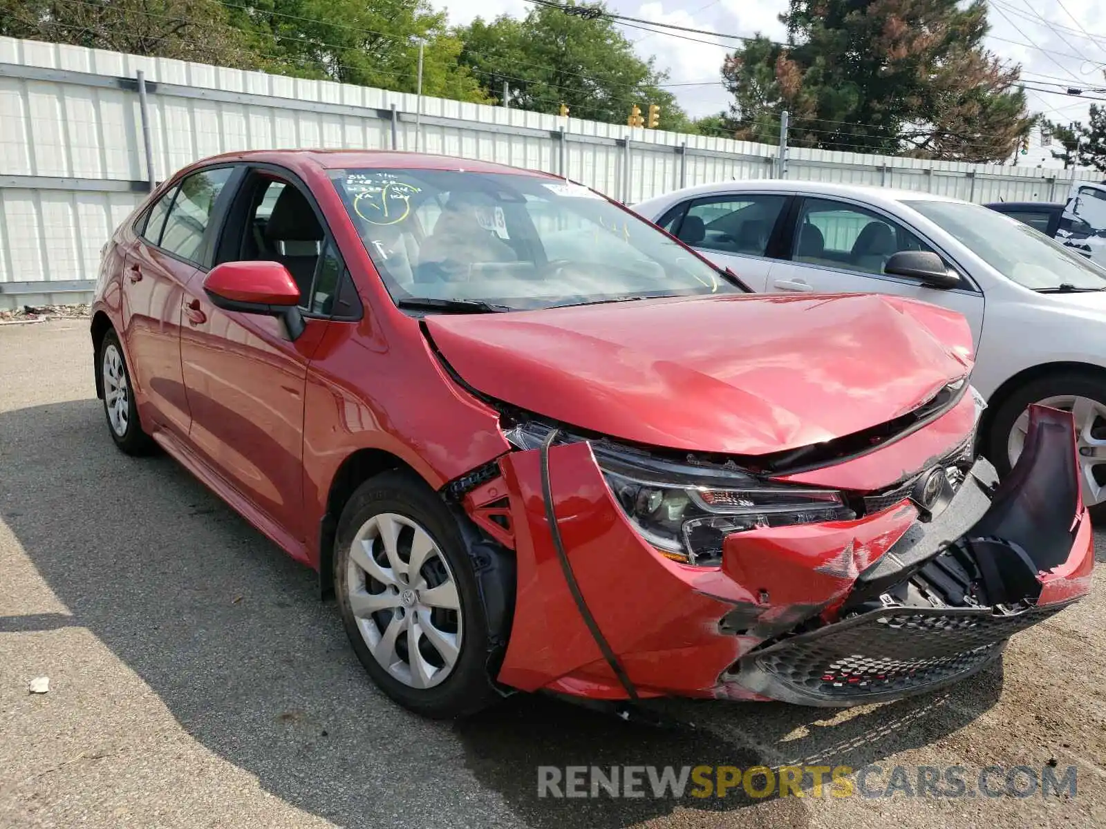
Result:
<instances>
[{"instance_id":1,"label":"red roof of the damaged sedan above its windshield","mask_svg":"<svg viewBox=\"0 0 1106 829\"><path fill-rule=\"evenodd\" d=\"M323 169L342 169L371 167L377 169L420 169L450 170L456 172L486 172L515 176L536 176L541 178L557 178L549 172L528 170L521 167L510 167L503 164L478 161L470 158L455 158L430 153L400 153L379 149L257 149L237 153L223 153L210 156L194 166L227 161L253 161L279 164L291 169L306 165Z\"/></svg>"}]
</instances>

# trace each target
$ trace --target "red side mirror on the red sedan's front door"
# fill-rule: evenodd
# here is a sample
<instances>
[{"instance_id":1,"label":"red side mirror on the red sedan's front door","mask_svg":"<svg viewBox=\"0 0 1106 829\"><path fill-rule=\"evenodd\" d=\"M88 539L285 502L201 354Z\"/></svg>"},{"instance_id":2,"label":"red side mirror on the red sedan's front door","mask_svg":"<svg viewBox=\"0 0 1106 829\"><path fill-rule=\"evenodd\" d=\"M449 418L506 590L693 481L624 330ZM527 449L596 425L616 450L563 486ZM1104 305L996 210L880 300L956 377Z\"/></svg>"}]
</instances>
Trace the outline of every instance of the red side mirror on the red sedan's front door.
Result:
<instances>
[{"instance_id":1,"label":"red side mirror on the red sedan's front door","mask_svg":"<svg viewBox=\"0 0 1106 829\"><path fill-rule=\"evenodd\" d=\"M223 262L205 277L204 292L217 308L283 319L290 339L303 334L300 288L280 262Z\"/></svg>"}]
</instances>

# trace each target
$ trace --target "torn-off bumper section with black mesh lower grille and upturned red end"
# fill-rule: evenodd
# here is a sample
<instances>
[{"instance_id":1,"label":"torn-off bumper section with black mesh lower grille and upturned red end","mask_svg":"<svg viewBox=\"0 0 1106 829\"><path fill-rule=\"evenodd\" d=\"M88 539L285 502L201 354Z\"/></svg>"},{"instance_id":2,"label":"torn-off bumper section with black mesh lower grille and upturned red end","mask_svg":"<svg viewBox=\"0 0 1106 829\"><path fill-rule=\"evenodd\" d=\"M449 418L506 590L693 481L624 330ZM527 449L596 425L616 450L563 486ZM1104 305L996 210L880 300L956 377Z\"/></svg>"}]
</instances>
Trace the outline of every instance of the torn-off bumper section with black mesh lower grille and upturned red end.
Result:
<instances>
[{"instance_id":1,"label":"torn-off bumper section with black mesh lower grille and upturned red end","mask_svg":"<svg viewBox=\"0 0 1106 829\"><path fill-rule=\"evenodd\" d=\"M836 621L765 640L723 682L785 702L853 705L984 668L1013 633L1089 590L1093 542L1074 448L1071 416L1033 407L1004 481L978 461L937 514L856 575Z\"/></svg>"}]
</instances>

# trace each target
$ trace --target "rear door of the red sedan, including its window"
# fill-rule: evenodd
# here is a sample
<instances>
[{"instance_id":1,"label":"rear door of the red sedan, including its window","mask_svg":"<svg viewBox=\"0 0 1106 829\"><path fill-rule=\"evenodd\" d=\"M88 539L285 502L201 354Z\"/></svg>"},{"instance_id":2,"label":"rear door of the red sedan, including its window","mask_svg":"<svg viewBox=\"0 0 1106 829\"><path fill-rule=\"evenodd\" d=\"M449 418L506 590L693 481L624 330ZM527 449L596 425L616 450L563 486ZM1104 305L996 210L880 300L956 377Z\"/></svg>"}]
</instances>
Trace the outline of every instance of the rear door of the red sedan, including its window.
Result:
<instances>
[{"instance_id":1,"label":"rear door of the red sedan, including its window","mask_svg":"<svg viewBox=\"0 0 1106 829\"><path fill-rule=\"evenodd\" d=\"M139 417L152 430L188 433L180 371L180 301L210 241L206 217L230 180L230 167L192 172L139 219L123 276L124 338Z\"/></svg>"}]
</instances>

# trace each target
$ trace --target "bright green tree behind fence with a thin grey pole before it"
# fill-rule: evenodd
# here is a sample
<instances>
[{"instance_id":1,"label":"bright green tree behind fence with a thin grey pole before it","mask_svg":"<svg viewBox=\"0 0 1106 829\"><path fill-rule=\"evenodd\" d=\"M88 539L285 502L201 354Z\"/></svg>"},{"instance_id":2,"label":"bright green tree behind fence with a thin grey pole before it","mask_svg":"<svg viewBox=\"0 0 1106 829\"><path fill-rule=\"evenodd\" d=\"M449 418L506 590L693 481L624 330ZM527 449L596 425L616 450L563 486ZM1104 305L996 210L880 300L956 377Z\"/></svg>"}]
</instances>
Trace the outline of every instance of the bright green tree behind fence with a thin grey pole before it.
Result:
<instances>
[{"instance_id":1,"label":"bright green tree behind fence with a thin grey pole before it","mask_svg":"<svg viewBox=\"0 0 1106 829\"><path fill-rule=\"evenodd\" d=\"M460 41L428 0L225 0L231 24L270 72L483 103L458 65Z\"/></svg>"}]
</instances>

